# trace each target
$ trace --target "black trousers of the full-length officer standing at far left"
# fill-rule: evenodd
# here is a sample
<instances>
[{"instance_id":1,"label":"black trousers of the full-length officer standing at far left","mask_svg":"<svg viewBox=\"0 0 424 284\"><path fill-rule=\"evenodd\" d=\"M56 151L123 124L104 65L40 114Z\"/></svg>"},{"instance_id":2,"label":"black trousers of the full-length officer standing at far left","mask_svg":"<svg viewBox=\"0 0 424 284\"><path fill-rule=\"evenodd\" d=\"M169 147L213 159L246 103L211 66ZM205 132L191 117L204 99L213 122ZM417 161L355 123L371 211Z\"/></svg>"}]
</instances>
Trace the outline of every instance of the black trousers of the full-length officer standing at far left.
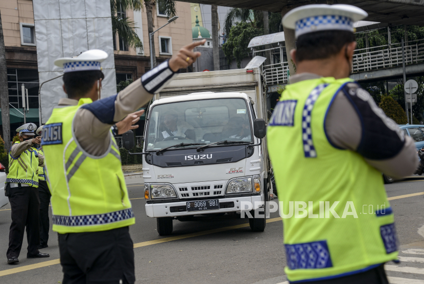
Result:
<instances>
[{"instance_id":1,"label":"black trousers of the full-length officer standing at far left","mask_svg":"<svg viewBox=\"0 0 424 284\"><path fill-rule=\"evenodd\" d=\"M38 189L31 186L11 187L9 202L12 209L12 224L10 224L7 257L19 256L25 228L28 240L27 256L38 253L40 245Z\"/></svg>"}]
</instances>

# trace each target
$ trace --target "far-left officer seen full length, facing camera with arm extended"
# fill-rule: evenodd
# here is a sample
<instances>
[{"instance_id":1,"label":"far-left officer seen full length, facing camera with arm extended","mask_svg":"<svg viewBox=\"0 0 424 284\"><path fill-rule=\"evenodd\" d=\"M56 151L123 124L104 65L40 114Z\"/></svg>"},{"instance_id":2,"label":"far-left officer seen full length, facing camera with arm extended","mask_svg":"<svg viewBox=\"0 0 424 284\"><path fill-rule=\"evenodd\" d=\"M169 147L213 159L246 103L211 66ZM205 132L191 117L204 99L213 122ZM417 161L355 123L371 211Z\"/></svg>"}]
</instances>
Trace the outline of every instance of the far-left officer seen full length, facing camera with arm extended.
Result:
<instances>
[{"instance_id":1,"label":"far-left officer seen full length, facing camera with arm extended","mask_svg":"<svg viewBox=\"0 0 424 284\"><path fill-rule=\"evenodd\" d=\"M25 227L28 240L27 258L50 256L38 251L40 200L37 173L39 165L43 165L43 156L32 148L34 144L40 144L40 138L34 138L36 128L35 124L27 123L16 129L19 132L19 141L16 141L9 151L9 174L6 178L6 186L10 186L9 202L12 209L9 248L6 253L9 264L19 262Z\"/></svg>"}]
</instances>

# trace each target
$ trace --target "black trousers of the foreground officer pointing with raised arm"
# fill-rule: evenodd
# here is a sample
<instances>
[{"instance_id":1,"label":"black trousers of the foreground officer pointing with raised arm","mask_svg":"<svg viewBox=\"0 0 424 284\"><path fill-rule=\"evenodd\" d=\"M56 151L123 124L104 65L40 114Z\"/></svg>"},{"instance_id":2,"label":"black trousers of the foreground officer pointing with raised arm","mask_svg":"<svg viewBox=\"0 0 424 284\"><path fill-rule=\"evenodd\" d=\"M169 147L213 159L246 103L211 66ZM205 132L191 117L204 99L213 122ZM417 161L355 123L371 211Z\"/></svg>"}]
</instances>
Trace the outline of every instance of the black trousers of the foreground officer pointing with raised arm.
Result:
<instances>
[{"instance_id":1,"label":"black trousers of the foreground officer pointing with raised arm","mask_svg":"<svg viewBox=\"0 0 424 284\"><path fill-rule=\"evenodd\" d=\"M128 227L58 235L63 284L134 283L134 251Z\"/></svg>"}]
</instances>

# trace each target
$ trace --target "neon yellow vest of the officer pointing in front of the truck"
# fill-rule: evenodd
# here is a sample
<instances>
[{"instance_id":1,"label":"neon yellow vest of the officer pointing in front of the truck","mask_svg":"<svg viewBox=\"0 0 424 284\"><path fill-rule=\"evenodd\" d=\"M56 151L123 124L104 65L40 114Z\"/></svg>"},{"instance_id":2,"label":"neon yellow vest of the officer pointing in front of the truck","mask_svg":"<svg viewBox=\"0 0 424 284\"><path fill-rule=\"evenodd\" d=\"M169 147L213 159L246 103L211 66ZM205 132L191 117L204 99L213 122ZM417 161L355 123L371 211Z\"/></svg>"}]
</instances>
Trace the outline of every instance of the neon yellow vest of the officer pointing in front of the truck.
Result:
<instances>
[{"instance_id":1,"label":"neon yellow vest of the officer pointing in front of the truck","mask_svg":"<svg viewBox=\"0 0 424 284\"><path fill-rule=\"evenodd\" d=\"M43 127L42 148L52 193L53 230L59 233L103 231L134 224L121 156L109 134L101 156L85 152L72 130L78 106L55 108ZM54 133L53 133L54 131Z\"/></svg>"}]
</instances>

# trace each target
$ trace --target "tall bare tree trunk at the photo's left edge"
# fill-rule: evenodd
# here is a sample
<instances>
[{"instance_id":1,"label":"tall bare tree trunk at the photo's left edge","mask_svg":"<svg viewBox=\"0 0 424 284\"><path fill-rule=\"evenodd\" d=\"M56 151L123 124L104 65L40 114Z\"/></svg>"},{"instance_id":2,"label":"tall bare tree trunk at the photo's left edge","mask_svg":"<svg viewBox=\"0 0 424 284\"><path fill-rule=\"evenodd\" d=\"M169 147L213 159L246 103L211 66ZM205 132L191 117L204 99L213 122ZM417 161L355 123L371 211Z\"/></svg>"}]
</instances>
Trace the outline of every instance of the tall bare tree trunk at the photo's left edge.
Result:
<instances>
[{"instance_id":1,"label":"tall bare tree trunk at the photo's left edge","mask_svg":"<svg viewBox=\"0 0 424 284\"><path fill-rule=\"evenodd\" d=\"M7 67L5 38L3 36L2 15L0 14L0 105L2 107L3 139L6 149L10 148L9 89L7 85Z\"/></svg>"}]
</instances>

